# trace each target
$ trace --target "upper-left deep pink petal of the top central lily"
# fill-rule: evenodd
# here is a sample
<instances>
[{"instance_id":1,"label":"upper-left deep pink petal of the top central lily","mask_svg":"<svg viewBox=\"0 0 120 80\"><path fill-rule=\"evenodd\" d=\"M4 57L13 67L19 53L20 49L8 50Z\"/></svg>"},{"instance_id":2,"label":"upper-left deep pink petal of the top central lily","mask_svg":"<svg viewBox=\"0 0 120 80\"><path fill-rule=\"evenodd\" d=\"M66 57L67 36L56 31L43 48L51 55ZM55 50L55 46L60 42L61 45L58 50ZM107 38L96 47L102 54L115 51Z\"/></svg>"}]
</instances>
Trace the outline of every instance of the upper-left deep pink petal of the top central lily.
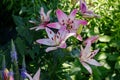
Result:
<instances>
[{"instance_id":1,"label":"upper-left deep pink petal of the top central lily","mask_svg":"<svg viewBox=\"0 0 120 80\"><path fill-rule=\"evenodd\" d=\"M67 15L63 11L61 11L60 9L58 9L56 11L56 15L57 15L58 21L61 24L64 24L67 22L67 19L68 19Z\"/></svg>"}]
</instances>

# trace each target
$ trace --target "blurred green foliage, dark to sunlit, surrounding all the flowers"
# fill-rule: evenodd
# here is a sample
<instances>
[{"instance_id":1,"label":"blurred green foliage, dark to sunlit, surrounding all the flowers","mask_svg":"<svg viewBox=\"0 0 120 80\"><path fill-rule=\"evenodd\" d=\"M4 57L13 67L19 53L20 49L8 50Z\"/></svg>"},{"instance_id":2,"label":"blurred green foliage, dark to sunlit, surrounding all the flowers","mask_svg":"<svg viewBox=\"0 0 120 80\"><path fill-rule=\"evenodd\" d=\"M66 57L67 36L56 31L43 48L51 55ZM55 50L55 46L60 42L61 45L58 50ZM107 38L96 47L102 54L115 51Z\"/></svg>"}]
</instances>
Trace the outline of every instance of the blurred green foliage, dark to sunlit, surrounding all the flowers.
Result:
<instances>
[{"instance_id":1,"label":"blurred green foliage, dark to sunlit, surrounding all the flowers","mask_svg":"<svg viewBox=\"0 0 120 80\"><path fill-rule=\"evenodd\" d=\"M79 1L76 0L3 0L0 9L0 55L5 56L5 66L13 74L21 72L25 67L32 76L41 68L41 80L119 80L120 77L120 4L119 0L86 0L89 10L101 18L83 18L80 12L76 18L87 20L81 32L83 40L93 35L99 35L99 40L92 44L92 50L99 48L99 54L94 58L102 66L95 67L90 65L93 74L80 64L77 56L80 53L80 44L76 38L71 37L67 40L67 50L57 49L46 53L47 46L36 44L39 38L46 38L44 30L31 31L33 26L40 24L39 10L44 8L45 13L52 10L50 22L57 22L57 9L61 9L69 14L73 9L80 9ZM49 4L49 5L48 5ZM29 20L36 24L29 23ZM81 29L80 29L81 31ZM17 51L17 68L11 62L11 38L14 40ZM96 44L97 43L97 44ZM3 57L0 56L0 63ZM24 58L24 57L25 58ZM23 66L23 58L26 65ZM13 65L13 67L11 66ZM0 65L0 72L3 65ZM1 73L0 73L1 74ZM19 75L20 77L20 75ZM2 76L0 75L2 79ZM17 80L17 79L16 79ZM21 80L23 80L21 78Z\"/></svg>"}]
</instances>

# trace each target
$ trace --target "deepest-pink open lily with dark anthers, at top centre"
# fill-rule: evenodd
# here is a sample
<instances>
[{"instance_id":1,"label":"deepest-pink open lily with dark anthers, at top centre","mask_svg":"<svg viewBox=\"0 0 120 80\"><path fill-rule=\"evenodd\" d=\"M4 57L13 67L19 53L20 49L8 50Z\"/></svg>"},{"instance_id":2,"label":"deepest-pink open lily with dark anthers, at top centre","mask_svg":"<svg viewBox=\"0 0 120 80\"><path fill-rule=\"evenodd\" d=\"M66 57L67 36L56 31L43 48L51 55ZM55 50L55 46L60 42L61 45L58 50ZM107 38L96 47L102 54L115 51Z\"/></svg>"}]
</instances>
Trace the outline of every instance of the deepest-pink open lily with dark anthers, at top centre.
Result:
<instances>
[{"instance_id":1,"label":"deepest-pink open lily with dark anthers, at top centre","mask_svg":"<svg viewBox=\"0 0 120 80\"><path fill-rule=\"evenodd\" d=\"M51 28L56 28L56 29L60 29L61 27L66 27L66 30L68 30L69 33L71 33L71 32L76 33L76 30L79 28L80 24L81 25L87 24L87 21L85 21L85 20L75 19L75 15L77 12L78 12L77 9L74 9L70 13L70 15L67 16L62 10L58 9L56 11L58 22L50 23L47 26L49 26ZM74 36L76 36L76 34ZM80 35L78 35L78 36L80 36ZM81 36L79 38L81 40Z\"/></svg>"}]
</instances>

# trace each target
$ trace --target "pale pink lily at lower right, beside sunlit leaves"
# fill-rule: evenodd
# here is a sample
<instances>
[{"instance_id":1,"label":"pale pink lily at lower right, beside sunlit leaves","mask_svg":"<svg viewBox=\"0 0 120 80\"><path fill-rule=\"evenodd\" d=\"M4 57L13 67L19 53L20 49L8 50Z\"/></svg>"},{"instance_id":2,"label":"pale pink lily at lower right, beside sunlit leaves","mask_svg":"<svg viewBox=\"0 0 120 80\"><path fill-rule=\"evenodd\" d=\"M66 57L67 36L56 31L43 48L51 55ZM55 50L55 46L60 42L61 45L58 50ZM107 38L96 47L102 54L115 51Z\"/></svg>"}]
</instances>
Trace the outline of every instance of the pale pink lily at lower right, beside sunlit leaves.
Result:
<instances>
[{"instance_id":1,"label":"pale pink lily at lower right, beside sunlit leaves","mask_svg":"<svg viewBox=\"0 0 120 80\"><path fill-rule=\"evenodd\" d=\"M91 52L90 48L91 48L90 41L87 43L84 49L81 46L80 62L88 70L88 72L92 74L92 69L88 64L95 65L95 66L101 66L101 64L98 63L95 59L93 59L93 57L98 53L99 49Z\"/></svg>"}]
</instances>

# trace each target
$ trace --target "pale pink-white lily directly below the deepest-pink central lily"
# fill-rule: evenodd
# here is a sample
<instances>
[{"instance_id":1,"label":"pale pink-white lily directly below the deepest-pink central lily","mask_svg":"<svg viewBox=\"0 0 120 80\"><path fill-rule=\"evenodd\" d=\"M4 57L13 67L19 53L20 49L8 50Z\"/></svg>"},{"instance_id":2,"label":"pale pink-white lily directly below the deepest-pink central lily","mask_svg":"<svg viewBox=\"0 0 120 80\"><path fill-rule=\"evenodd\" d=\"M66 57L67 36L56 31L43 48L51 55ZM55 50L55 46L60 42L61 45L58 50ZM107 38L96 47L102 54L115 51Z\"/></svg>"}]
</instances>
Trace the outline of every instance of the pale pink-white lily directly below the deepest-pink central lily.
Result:
<instances>
[{"instance_id":1,"label":"pale pink-white lily directly below the deepest-pink central lily","mask_svg":"<svg viewBox=\"0 0 120 80\"><path fill-rule=\"evenodd\" d=\"M36 42L39 44L48 45L46 52L56 50L57 48L66 48L65 41L70 37L73 36L74 33L68 33L65 28L59 29L57 34L55 34L51 29L46 28L46 32L48 35L48 39L38 39Z\"/></svg>"}]
</instances>

